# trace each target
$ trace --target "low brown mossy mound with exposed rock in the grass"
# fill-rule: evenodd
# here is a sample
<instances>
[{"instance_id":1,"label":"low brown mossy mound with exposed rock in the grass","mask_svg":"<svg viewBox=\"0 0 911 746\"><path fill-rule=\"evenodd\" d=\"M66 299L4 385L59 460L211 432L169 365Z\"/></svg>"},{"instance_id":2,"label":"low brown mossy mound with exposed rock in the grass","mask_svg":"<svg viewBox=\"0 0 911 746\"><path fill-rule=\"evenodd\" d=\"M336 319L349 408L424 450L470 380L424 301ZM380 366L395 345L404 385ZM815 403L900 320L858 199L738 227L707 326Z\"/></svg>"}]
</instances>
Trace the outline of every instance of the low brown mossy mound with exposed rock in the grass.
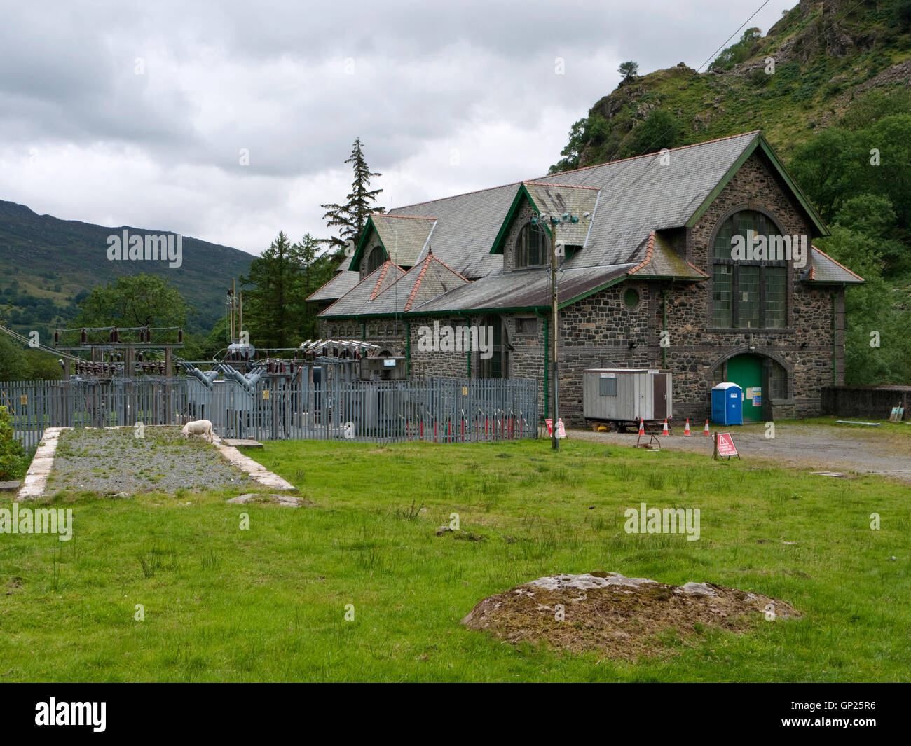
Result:
<instances>
[{"instance_id":1,"label":"low brown mossy mound with exposed rock in the grass","mask_svg":"<svg viewBox=\"0 0 911 746\"><path fill-rule=\"evenodd\" d=\"M636 659L665 646L661 637L685 638L699 626L743 632L800 613L778 598L714 583L669 586L615 572L539 577L480 601L462 624L499 639L551 648L602 650ZM768 620L768 621L766 621Z\"/></svg>"}]
</instances>

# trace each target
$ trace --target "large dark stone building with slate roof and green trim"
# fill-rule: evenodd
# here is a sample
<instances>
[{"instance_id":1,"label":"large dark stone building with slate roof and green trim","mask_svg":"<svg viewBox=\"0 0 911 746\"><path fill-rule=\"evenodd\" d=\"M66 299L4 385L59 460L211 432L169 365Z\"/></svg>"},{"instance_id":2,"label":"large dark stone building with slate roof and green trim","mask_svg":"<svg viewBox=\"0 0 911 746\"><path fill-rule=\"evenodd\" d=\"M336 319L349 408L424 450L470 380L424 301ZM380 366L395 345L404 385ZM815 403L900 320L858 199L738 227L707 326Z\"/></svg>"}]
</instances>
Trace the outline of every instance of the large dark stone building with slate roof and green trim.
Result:
<instances>
[{"instance_id":1,"label":"large dark stone building with slate roof and green trim","mask_svg":"<svg viewBox=\"0 0 911 746\"><path fill-rule=\"evenodd\" d=\"M863 280L813 247L828 231L760 132L371 216L311 296L321 334L404 355L412 376L545 383L555 230L569 424L588 368L669 370L675 419L694 422L714 383L740 383L752 421L819 414L821 388L844 383L844 291ZM427 349L435 322L492 334Z\"/></svg>"}]
</instances>

